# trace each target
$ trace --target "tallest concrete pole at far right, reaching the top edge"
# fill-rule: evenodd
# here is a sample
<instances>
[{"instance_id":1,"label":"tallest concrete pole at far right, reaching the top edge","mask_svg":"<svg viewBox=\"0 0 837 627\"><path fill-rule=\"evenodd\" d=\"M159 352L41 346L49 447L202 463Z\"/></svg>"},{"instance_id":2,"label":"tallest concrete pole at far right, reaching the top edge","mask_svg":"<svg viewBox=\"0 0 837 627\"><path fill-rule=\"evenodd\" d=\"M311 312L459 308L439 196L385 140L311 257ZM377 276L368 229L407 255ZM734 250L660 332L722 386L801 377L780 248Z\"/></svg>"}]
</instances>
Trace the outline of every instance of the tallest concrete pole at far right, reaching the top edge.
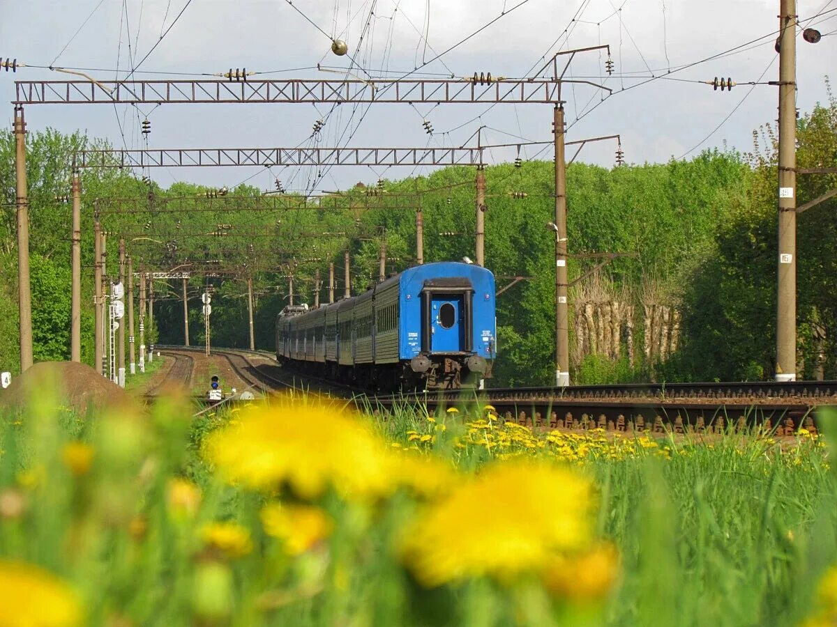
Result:
<instances>
[{"instance_id":1,"label":"tallest concrete pole at far right, reaching the top edge","mask_svg":"<svg viewBox=\"0 0 837 627\"><path fill-rule=\"evenodd\" d=\"M779 3L776 380L796 380L796 0Z\"/></svg>"}]
</instances>

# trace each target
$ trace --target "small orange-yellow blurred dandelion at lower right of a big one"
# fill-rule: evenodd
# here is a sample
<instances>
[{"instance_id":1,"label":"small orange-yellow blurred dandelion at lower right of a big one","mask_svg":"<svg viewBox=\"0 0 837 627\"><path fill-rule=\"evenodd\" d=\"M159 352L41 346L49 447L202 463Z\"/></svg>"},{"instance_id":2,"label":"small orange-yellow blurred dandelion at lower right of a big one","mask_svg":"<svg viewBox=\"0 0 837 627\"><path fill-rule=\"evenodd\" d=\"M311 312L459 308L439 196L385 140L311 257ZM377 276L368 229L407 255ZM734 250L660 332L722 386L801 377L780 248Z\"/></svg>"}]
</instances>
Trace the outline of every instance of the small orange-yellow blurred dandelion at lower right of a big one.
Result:
<instances>
[{"instance_id":1,"label":"small orange-yellow blurred dandelion at lower right of a big one","mask_svg":"<svg viewBox=\"0 0 837 627\"><path fill-rule=\"evenodd\" d=\"M619 555L610 544L547 564L543 582L552 594L573 601L601 599L613 588L619 573Z\"/></svg>"}]
</instances>

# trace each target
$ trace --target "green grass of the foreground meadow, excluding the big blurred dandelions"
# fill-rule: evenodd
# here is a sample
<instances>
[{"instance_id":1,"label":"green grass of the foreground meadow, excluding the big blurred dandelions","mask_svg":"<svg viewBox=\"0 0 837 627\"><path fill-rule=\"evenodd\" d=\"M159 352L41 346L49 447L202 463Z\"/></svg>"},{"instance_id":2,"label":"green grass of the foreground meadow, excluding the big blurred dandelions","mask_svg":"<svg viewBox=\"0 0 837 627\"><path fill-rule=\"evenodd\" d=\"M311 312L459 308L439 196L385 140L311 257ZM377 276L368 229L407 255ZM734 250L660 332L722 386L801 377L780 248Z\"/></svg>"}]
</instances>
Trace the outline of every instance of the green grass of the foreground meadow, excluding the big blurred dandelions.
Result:
<instances>
[{"instance_id":1,"label":"green grass of the foreground meadow, excluding the big blurred dandelions","mask_svg":"<svg viewBox=\"0 0 837 627\"><path fill-rule=\"evenodd\" d=\"M331 538L288 558L259 522L270 496L219 481L204 461L208 434L239 412L190 415L188 405L164 401L145 417L82 420L42 399L23 419L0 417L0 504L9 495L25 503L0 516L0 559L39 564L64 579L80 595L87 624L167 626L794 625L810 613L824 569L837 562L834 471L821 442L664 437L621 459L607 459L614 449L594 444L572 462L596 487L595 535L620 555L619 582L600 603L544 612L542 593L522 579L424 590L393 555L393 538L419 511L412 497L398 493L369 509L329 493L317 504L335 521ZM525 446L531 434L490 450L457 446L469 434L462 413L427 418L400 408L372 420L404 448L413 446L408 431L432 433L434 441L415 446L465 473L502 456L513 457L506 463L547 457ZM63 459L76 438L95 451L79 476ZM549 458L560 458L560 447L552 450ZM196 512L172 510L173 477L200 487ZM223 559L206 546L199 530L223 520L247 530L251 553ZM523 530L538 523L519 521ZM437 529L438 542L457 531Z\"/></svg>"}]
</instances>

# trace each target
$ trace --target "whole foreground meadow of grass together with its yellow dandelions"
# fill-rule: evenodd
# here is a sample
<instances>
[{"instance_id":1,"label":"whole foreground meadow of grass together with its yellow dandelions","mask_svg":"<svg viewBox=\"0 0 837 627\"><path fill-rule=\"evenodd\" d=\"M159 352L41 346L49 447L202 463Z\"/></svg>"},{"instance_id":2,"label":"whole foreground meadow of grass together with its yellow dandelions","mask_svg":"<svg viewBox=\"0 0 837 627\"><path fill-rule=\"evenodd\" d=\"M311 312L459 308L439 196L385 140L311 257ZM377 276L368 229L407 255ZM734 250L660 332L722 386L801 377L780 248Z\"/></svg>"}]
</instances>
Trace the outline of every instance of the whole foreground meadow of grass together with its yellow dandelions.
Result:
<instances>
[{"instance_id":1,"label":"whole foreground meadow of grass together with its yellow dandelions","mask_svg":"<svg viewBox=\"0 0 837 627\"><path fill-rule=\"evenodd\" d=\"M54 405L0 417L0 627L837 619L834 471L804 432Z\"/></svg>"}]
</instances>

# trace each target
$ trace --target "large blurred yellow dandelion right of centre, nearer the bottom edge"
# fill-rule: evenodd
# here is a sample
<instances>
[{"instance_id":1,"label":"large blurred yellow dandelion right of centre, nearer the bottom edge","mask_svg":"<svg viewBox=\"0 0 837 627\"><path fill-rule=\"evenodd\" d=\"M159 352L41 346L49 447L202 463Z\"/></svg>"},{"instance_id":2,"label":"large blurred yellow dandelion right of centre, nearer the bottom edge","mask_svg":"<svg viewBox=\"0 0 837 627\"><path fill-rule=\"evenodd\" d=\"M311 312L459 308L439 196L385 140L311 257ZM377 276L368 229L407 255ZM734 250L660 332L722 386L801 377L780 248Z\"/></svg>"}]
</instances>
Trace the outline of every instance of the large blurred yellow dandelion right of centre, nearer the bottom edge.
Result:
<instances>
[{"instance_id":1,"label":"large blurred yellow dandelion right of centre, nearer the bottom edge","mask_svg":"<svg viewBox=\"0 0 837 627\"><path fill-rule=\"evenodd\" d=\"M416 517L399 552L428 587L483 574L506 580L588 542L591 492L588 480L562 468L490 466Z\"/></svg>"}]
</instances>

